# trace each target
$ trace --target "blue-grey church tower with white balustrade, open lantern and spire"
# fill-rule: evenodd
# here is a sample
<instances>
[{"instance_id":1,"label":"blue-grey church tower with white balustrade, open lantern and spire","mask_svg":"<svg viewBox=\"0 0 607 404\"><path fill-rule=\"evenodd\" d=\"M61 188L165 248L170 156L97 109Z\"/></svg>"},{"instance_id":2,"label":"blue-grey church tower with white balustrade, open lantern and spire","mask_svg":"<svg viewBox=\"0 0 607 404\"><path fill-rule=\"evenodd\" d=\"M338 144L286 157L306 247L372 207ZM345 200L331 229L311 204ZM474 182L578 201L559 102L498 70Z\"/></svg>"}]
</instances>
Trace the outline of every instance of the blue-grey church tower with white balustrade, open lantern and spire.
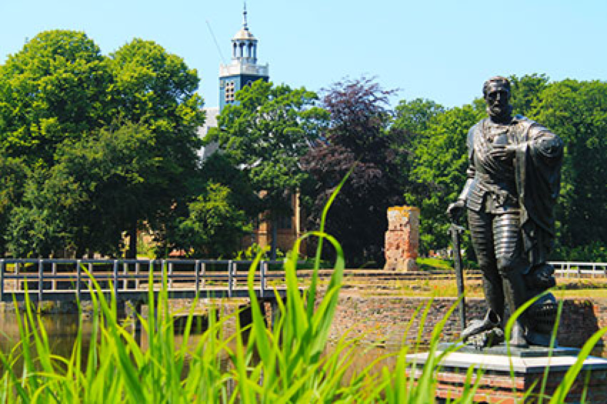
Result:
<instances>
[{"instance_id":1,"label":"blue-grey church tower with white balustrade, open lantern and spire","mask_svg":"<svg viewBox=\"0 0 607 404\"><path fill-rule=\"evenodd\" d=\"M268 64L257 64L257 39L249 31L245 3L242 28L232 38L232 62L229 65L219 65L219 111L236 102L236 91L259 79L270 79Z\"/></svg>"}]
</instances>

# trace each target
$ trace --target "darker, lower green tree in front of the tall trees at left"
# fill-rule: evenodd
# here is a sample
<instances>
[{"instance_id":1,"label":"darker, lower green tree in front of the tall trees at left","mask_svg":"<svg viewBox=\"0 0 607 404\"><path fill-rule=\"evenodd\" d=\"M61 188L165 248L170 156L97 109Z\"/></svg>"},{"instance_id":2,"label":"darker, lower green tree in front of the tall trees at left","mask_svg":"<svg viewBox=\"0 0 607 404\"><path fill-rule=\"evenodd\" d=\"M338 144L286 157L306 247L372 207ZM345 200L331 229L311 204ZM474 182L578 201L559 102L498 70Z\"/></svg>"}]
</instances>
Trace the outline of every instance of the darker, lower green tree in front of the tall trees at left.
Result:
<instances>
[{"instance_id":1,"label":"darker, lower green tree in front of the tall trees at left","mask_svg":"<svg viewBox=\"0 0 607 404\"><path fill-rule=\"evenodd\" d=\"M163 169L143 125L124 123L78 142L64 142L50 168L35 167L10 220L10 247L19 256L73 250L117 256L132 207ZM32 240L39 242L32 242Z\"/></svg>"}]
</instances>

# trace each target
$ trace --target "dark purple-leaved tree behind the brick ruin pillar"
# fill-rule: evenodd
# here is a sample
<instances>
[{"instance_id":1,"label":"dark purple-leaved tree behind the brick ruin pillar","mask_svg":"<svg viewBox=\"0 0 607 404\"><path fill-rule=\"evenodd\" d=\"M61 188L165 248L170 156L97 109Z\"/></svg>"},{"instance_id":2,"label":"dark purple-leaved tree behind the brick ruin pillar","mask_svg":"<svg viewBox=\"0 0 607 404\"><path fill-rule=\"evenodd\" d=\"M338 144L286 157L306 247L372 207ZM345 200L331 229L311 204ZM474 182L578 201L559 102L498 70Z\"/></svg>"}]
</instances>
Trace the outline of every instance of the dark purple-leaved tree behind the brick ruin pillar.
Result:
<instances>
[{"instance_id":1,"label":"dark purple-leaved tree behind the brick ruin pillar","mask_svg":"<svg viewBox=\"0 0 607 404\"><path fill-rule=\"evenodd\" d=\"M319 225L328 197L352 170L326 228L342 243L349 265L382 265L386 211L402 202L407 176L398 157L405 132L390 129L388 97L393 92L367 78L333 84L322 98L330 125L301 159L311 177L304 188L308 228Z\"/></svg>"}]
</instances>

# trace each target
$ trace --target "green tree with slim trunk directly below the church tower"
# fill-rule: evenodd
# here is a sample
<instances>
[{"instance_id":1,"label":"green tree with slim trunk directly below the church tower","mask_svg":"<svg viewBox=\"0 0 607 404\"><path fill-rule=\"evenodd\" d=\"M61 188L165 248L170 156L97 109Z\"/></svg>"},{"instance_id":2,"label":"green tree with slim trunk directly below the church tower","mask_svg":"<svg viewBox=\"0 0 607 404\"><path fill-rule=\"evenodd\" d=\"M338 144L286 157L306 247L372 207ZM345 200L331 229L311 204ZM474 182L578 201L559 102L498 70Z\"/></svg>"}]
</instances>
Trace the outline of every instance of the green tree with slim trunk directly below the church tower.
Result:
<instances>
[{"instance_id":1,"label":"green tree with slim trunk directly below the church tower","mask_svg":"<svg viewBox=\"0 0 607 404\"><path fill-rule=\"evenodd\" d=\"M327 113L315 106L312 91L262 80L236 93L236 101L223 109L208 141L219 142L221 153L246 173L260 196L260 210L270 215L275 256L277 220L293 213L290 196L306 176L299 159L318 139Z\"/></svg>"}]
</instances>

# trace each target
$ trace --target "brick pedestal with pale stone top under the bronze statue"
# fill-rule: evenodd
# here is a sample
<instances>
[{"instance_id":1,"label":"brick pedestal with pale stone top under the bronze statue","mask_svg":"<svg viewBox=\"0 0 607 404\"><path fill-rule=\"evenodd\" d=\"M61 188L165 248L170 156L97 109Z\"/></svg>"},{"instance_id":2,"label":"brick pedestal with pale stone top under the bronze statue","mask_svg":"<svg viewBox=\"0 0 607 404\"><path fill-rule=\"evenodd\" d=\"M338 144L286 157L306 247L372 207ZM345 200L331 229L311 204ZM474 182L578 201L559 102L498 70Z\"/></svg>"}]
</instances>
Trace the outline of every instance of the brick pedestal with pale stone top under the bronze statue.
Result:
<instances>
[{"instance_id":1,"label":"brick pedestal with pale stone top under the bronze statue","mask_svg":"<svg viewBox=\"0 0 607 404\"><path fill-rule=\"evenodd\" d=\"M440 349L440 348L439 348ZM579 349L555 348L549 355L547 348L511 349L507 354L506 347L495 347L477 351L473 348L463 349L447 354L441 361L441 367L435 371L436 398L455 399L461 397L466 385L469 388L478 382L474 402L484 403L534 403L540 402L538 395L544 383L544 399L550 397L563 380L566 372L577 360ZM428 354L415 354L408 357L409 362L416 363L418 370L411 376L419 377L419 368L426 363ZM469 368L482 369L480 376L472 377L466 382ZM548 375L544 376L548 369ZM525 393L531 395L523 400ZM607 402L607 360L589 356L583 362L582 371L566 396L566 403L606 403Z\"/></svg>"}]
</instances>

